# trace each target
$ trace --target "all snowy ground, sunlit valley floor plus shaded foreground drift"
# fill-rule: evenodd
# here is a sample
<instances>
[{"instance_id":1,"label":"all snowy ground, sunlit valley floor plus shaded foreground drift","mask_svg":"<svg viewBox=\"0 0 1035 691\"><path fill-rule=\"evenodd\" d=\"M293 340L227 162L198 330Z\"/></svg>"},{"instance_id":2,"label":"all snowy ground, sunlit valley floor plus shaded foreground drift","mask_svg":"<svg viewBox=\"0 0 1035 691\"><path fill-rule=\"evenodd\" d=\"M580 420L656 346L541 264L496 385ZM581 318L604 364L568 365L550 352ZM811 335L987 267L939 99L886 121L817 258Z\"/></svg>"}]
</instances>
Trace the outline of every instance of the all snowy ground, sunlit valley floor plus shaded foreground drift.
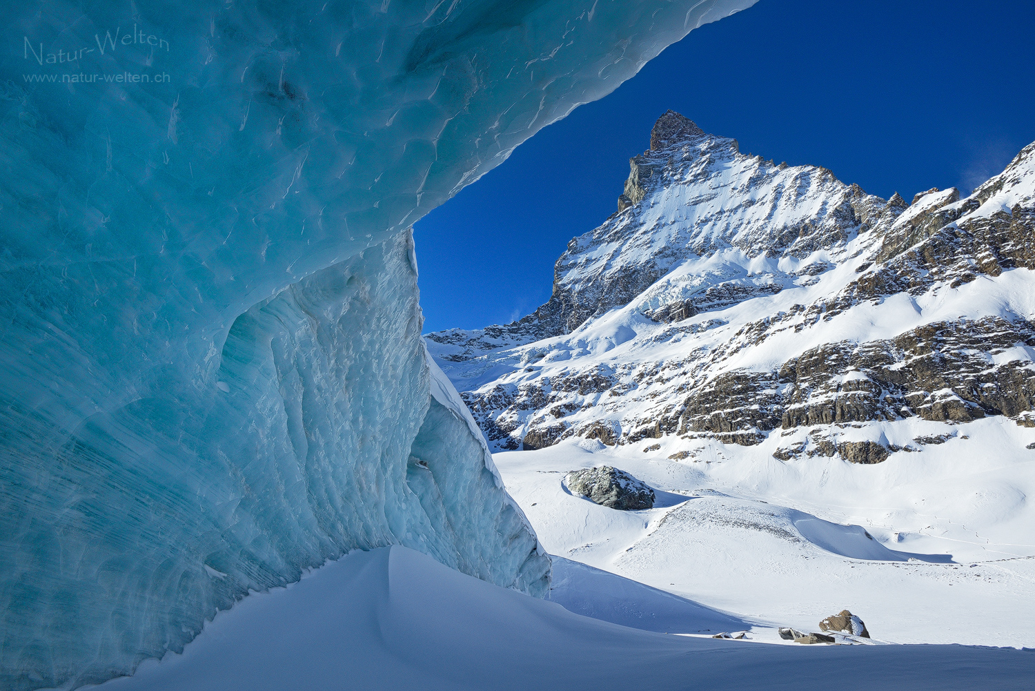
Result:
<instances>
[{"instance_id":1,"label":"all snowy ground, sunlit valley floor plus shaded foreground drift","mask_svg":"<svg viewBox=\"0 0 1035 691\"><path fill-rule=\"evenodd\" d=\"M977 453L1002 429L982 424L960 435L983 439L972 454L950 441L876 466L769 462L758 449L734 457L710 440L679 461L668 448L595 441L497 454L555 555L549 601L404 547L353 552L245 598L184 654L102 687L801 690L851 679L1029 689L1032 464ZM568 492L565 472L601 464L650 483L655 508L621 512ZM801 645L776 632L817 631L845 608L874 644Z\"/></svg>"}]
</instances>

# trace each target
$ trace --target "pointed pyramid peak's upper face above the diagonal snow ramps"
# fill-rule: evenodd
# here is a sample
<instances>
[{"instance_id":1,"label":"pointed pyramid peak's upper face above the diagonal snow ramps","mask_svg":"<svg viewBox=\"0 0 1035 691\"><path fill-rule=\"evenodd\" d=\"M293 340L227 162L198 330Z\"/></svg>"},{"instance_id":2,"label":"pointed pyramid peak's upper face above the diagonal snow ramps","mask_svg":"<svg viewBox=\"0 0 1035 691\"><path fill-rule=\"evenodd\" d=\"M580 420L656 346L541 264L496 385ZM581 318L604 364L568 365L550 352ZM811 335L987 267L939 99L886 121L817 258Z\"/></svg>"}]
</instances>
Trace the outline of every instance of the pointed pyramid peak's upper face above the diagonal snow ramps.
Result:
<instances>
[{"instance_id":1,"label":"pointed pyramid peak's upper face above the diagonal snow ramps","mask_svg":"<svg viewBox=\"0 0 1035 691\"><path fill-rule=\"evenodd\" d=\"M900 200L889 204L866 195L824 168L789 168L742 154L736 140L707 135L671 111L655 133L667 126L675 131L668 146L630 160L626 193L640 202L631 205L623 194L617 213L568 243L549 303L504 326L431 335L433 352L460 363L503 345L567 334L652 286L639 305L648 312L690 296L701 311L704 304L714 309L770 294L793 283L788 273L805 266L817 272L828 254L844 255L845 240L900 210ZM692 275L654 285L685 264ZM472 376L471 368L447 371Z\"/></svg>"}]
</instances>

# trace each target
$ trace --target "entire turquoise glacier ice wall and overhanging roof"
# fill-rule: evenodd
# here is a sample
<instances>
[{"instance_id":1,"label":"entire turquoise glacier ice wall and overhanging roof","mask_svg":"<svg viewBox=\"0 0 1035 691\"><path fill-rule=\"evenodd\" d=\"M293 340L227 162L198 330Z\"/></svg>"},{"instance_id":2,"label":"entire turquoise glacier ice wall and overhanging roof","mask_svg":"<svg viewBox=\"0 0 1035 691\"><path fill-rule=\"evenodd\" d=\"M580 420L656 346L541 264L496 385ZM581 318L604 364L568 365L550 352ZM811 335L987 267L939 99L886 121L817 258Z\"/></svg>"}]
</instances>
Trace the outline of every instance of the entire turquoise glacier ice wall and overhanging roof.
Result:
<instances>
[{"instance_id":1,"label":"entire turquoise glacier ice wall and overhanging roof","mask_svg":"<svg viewBox=\"0 0 1035 691\"><path fill-rule=\"evenodd\" d=\"M550 564L419 338L412 224L752 0L48 2L0 29L0 687L401 544Z\"/></svg>"}]
</instances>

